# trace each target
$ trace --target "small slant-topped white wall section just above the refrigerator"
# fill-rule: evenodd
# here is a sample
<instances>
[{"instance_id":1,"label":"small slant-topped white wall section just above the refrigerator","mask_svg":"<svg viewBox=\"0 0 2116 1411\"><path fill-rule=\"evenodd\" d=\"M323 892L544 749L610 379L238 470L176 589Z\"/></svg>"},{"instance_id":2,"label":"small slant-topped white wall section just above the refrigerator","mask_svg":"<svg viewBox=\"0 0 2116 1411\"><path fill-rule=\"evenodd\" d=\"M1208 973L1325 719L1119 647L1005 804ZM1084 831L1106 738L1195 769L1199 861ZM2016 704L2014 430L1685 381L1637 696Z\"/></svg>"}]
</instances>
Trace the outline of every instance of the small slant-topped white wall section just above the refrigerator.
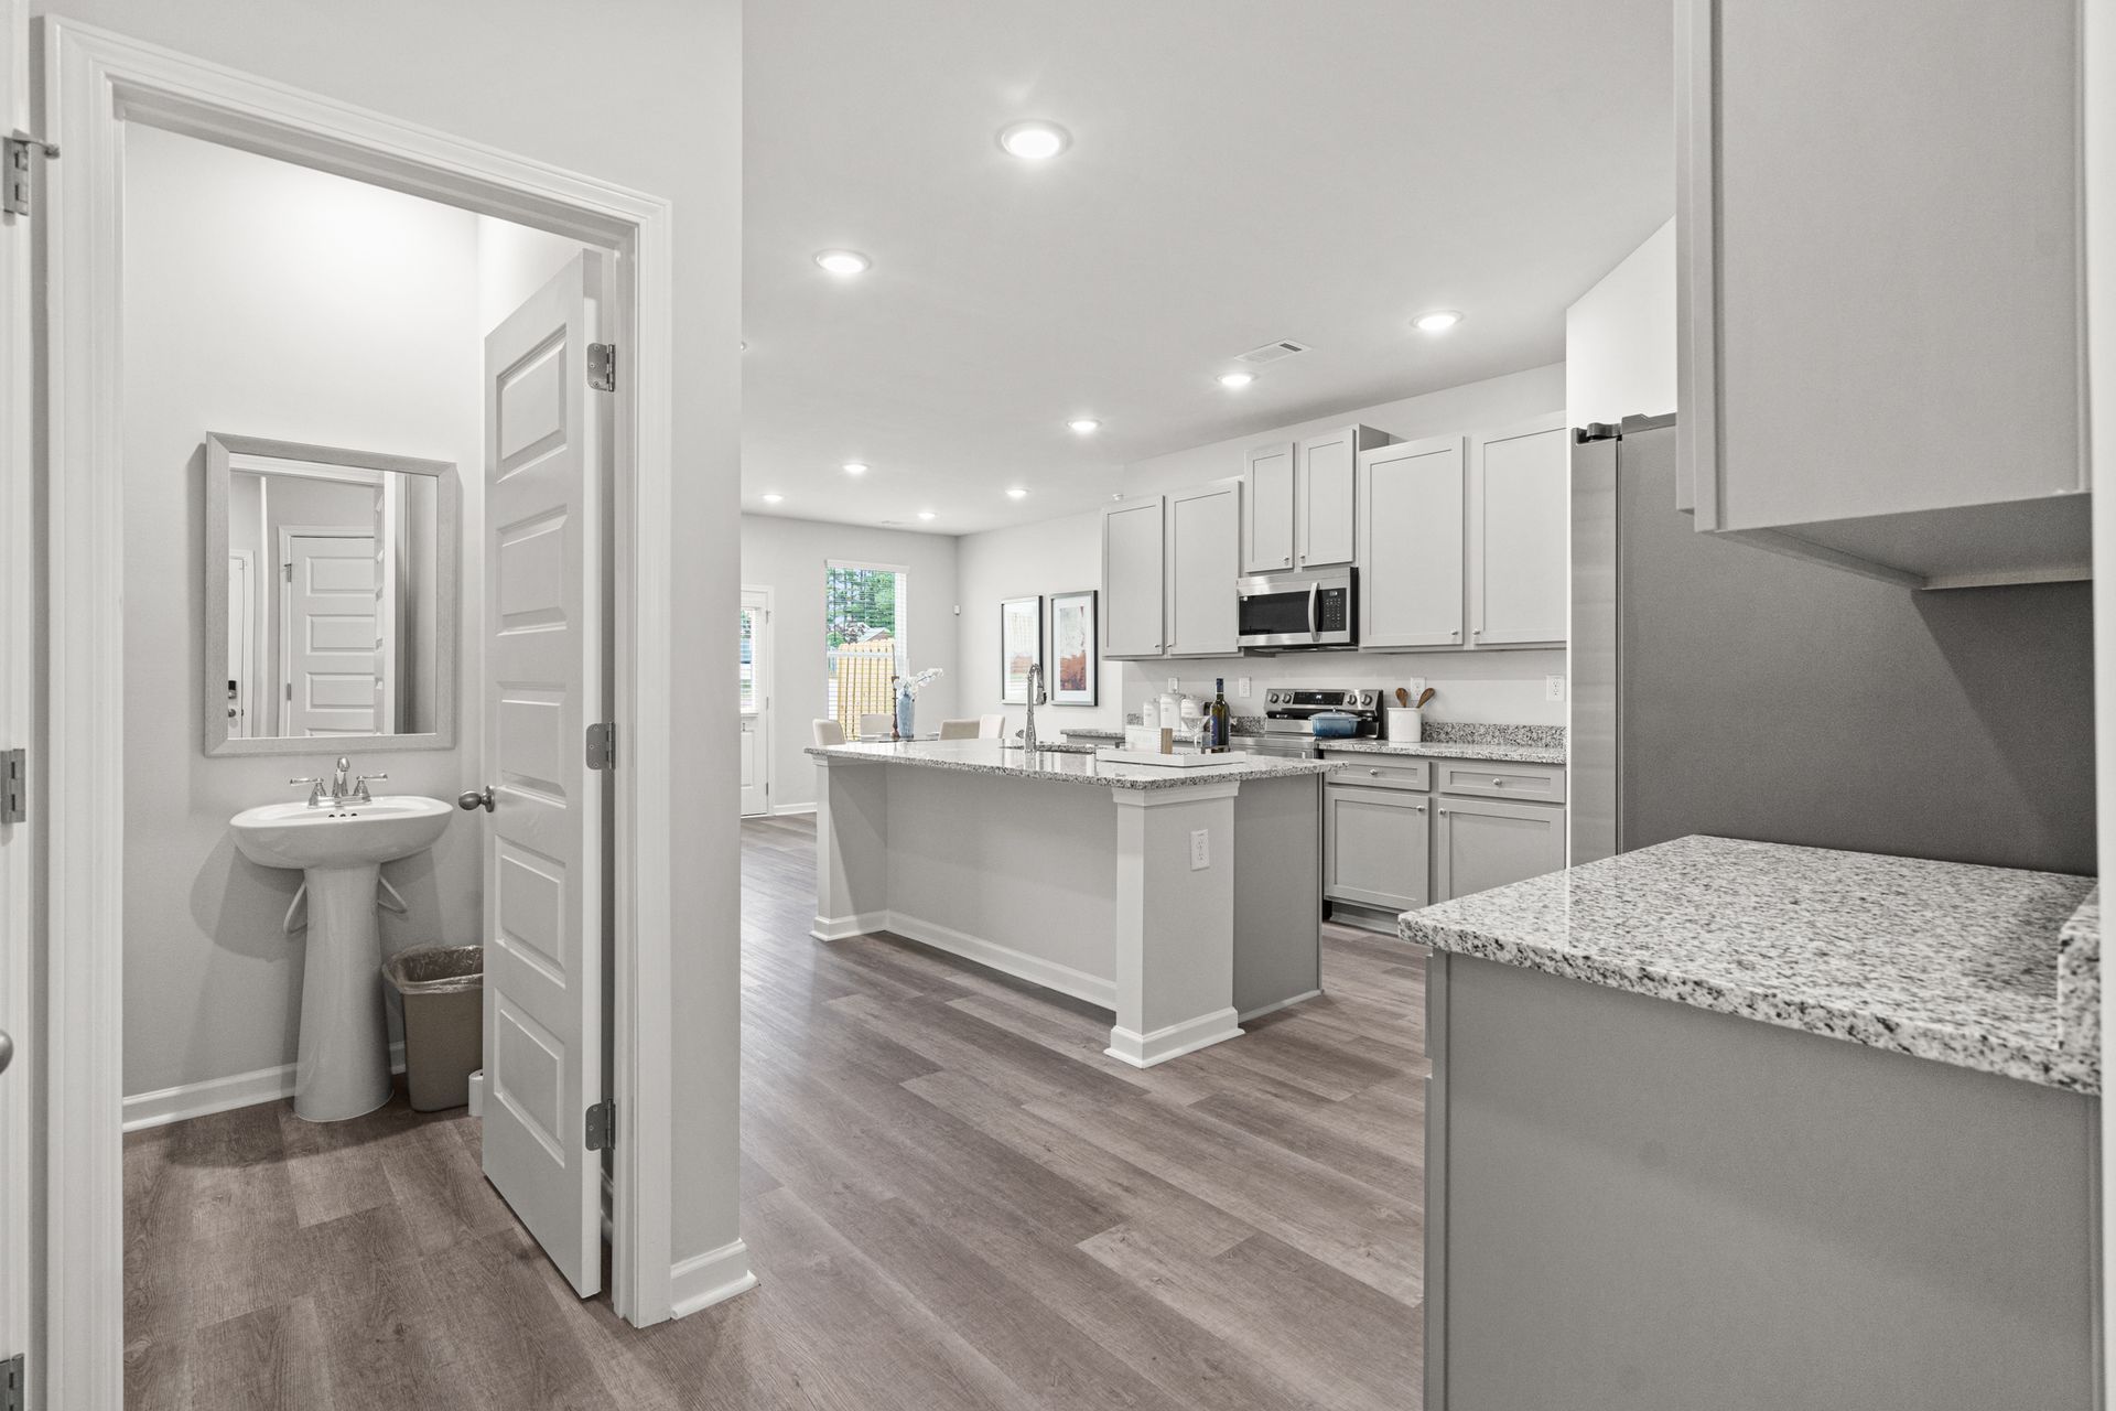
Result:
<instances>
[{"instance_id":1,"label":"small slant-topped white wall section just above the refrigerator","mask_svg":"<svg viewBox=\"0 0 2116 1411\"><path fill-rule=\"evenodd\" d=\"M1572 425L1676 410L1676 222L1566 309Z\"/></svg>"}]
</instances>

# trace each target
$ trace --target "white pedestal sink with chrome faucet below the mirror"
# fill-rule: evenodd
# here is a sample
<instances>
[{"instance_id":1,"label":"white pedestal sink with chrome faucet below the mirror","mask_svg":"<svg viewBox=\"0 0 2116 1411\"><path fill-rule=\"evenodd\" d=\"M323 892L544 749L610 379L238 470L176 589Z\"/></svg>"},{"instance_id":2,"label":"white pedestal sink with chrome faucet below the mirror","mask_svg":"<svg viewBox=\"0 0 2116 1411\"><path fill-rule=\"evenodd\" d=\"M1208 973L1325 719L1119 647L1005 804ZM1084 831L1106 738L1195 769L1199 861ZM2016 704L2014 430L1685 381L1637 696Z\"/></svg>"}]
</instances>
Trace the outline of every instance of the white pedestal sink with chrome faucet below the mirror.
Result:
<instances>
[{"instance_id":1,"label":"white pedestal sink with chrome faucet below the mirror","mask_svg":"<svg viewBox=\"0 0 2116 1411\"><path fill-rule=\"evenodd\" d=\"M264 804L235 814L231 827L243 857L264 867L298 867L309 886L296 1117L341 1121L389 1100L375 888L381 865L430 848L451 812L440 800L385 795L315 808Z\"/></svg>"}]
</instances>

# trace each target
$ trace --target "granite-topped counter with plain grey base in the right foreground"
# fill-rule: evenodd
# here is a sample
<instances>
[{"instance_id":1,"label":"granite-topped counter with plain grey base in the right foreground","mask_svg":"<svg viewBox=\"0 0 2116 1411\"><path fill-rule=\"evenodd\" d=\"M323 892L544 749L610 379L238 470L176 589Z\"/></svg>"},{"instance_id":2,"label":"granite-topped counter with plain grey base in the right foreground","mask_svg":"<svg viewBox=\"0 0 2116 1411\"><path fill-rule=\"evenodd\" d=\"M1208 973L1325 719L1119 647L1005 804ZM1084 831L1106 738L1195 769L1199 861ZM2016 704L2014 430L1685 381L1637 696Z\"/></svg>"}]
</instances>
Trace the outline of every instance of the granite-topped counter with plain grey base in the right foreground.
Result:
<instances>
[{"instance_id":1,"label":"granite-topped counter with plain grey base in the right foreground","mask_svg":"<svg viewBox=\"0 0 2116 1411\"><path fill-rule=\"evenodd\" d=\"M1682 838L1401 933L1428 1411L2093 1405L2093 878Z\"/></svg>"}]
</instances>

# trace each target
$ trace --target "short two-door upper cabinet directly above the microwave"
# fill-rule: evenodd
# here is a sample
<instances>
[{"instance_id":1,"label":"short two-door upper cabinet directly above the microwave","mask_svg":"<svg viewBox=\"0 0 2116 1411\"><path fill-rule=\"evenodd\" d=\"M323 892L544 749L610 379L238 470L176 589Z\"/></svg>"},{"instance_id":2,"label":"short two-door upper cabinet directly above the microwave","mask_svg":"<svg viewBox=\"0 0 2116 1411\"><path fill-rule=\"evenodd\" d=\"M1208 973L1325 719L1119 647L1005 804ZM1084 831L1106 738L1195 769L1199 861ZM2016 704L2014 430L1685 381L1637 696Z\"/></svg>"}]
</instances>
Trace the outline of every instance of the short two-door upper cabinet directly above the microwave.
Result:
<instances>
[{"instance_id":1,"label":"short two-door upper cabinet directly above the microwave","mask_svg":"<svg viewBox=\"0 0 2116 1411\"><path fill-rule=\"evenodd\" d=\"M1358 453L1390 436L1350 425L1251 446L1242 465L1242 571L1348 567L1358 554Z\"/></svg>"}]
</instances>

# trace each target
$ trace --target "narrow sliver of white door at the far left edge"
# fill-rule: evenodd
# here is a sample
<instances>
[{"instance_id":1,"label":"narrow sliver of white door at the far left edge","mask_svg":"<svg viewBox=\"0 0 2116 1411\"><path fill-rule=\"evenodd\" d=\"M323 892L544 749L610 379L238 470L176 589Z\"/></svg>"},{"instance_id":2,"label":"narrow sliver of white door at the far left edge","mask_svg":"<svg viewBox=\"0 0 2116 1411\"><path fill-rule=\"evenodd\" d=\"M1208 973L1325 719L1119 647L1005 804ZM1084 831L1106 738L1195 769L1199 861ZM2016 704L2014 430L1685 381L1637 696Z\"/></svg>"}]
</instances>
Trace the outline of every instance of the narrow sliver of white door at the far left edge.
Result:
<instances>
[{"instance_id":1,"label":"narrow sliver of white door at the far left edge","mask_svg":"<svg viewBox=\"0 0 2116 1411\"><path fill-rule=\"evenodd\" d=\"M0 133L30 131L30 6L0 0ZM0 216L0 749L30 745L30 220ZM30 1352L30 823L0 823L0 1362ZM36 1373L42 1377L42 1373Z\"/></svg>"}]
</instances>

